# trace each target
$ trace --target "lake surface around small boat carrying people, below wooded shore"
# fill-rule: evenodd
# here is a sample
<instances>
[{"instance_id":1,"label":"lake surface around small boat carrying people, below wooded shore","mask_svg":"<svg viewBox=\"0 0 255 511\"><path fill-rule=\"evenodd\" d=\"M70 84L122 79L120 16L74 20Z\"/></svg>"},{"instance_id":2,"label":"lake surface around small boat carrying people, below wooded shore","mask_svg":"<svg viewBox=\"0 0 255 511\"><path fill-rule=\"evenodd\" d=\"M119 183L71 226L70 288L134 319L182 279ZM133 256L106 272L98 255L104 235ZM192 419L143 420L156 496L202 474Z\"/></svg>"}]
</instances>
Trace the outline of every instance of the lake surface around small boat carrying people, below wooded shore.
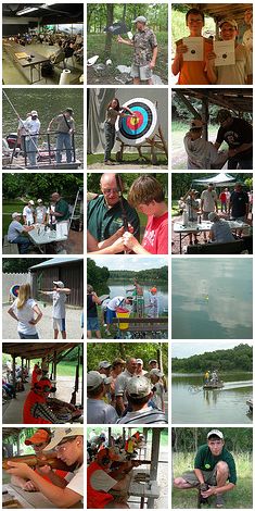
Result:
<instances>
[{"instance_id":1,"label":"lake surface around small boat carrying people, below wooded shore","mask_svg":"<svg viewBox=\"0 0 255 511\"><path fill-rule=\"evenodd\" d=\"M246 424L246 400L253 396L252 373L220 373L222 389L204 390L203 375L171 375L171 422L174 424Z\"/></svg>"}]
</instances>

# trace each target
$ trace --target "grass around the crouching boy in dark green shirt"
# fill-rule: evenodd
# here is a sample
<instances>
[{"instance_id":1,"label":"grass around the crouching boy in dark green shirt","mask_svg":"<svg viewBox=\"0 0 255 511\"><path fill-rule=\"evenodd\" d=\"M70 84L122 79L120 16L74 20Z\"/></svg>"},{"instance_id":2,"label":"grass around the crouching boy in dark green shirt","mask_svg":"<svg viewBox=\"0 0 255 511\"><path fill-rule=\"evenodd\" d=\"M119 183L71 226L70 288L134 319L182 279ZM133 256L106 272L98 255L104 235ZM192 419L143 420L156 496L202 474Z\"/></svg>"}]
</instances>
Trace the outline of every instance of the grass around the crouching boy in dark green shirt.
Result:
<instances>
[{"instance_id":1,"label":"grass around the crouching boy in dark green shirt","mask_svg":"<svg viewBox=\"0 0 255 511\"><path fill-rule=\"evenodd\" d=\"M245 452L233 453L233 457L237 465L238 484L233 490L225 494L225 509L253 509L252 457ZM193 470L193 460L194 454L192 453L175 453L175 477L180 476L188 470ZM196 491L181 491L174 488L171 507L173 509L195 509ZM215 498L211 498L211 504L208 508L215 509Z\"/></svg>"}]
</instances>

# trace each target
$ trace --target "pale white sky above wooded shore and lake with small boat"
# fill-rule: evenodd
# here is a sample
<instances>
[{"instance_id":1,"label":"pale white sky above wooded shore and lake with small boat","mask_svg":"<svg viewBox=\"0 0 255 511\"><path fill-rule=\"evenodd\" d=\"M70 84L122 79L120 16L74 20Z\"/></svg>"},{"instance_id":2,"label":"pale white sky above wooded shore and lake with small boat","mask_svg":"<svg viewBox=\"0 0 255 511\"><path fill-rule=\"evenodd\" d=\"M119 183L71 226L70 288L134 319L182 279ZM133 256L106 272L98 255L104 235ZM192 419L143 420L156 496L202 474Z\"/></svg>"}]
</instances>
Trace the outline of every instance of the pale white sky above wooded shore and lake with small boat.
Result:
<instances>
[{"instance_id":1,"label":"pale white sky above wooded shore and lake with small boat","mask_svg":"<svg viewBox=\"0 0 255 511\"><path fill-rule=\"evenodd\" d=\"M208 341L204 340L203 342L173 342L171 344L171 358L177 357L178 359L188 359L192 354L201 354L206 351L216 351L219 349L232 349L239 345L248 345L253 346L252 340L219 340L219 341Z\"/></svg>"}]
</instances>

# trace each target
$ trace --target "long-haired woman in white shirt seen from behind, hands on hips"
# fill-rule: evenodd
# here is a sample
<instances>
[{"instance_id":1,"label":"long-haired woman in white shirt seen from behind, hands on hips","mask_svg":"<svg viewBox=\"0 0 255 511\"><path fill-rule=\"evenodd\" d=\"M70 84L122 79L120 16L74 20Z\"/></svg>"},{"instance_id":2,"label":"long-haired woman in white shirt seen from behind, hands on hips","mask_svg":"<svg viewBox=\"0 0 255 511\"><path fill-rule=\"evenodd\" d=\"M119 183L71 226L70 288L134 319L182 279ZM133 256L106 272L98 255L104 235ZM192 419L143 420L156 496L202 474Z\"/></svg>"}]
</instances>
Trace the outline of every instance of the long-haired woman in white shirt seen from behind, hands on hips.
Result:
<instances>
[{"instance_id":1,"label":"long-haired woman in white shirt seen from behind, hands on hips","mask_svg":"<svg viewBox=\"0 0 255 511\"><path fill-rule=\"evenodd\" d=\"M30 284L20 286L18 297L14 300L8 313L17 321L20 339L39 339L36 325L41 320L42 312L31 298Z\"/></svg>"}]
</instances>

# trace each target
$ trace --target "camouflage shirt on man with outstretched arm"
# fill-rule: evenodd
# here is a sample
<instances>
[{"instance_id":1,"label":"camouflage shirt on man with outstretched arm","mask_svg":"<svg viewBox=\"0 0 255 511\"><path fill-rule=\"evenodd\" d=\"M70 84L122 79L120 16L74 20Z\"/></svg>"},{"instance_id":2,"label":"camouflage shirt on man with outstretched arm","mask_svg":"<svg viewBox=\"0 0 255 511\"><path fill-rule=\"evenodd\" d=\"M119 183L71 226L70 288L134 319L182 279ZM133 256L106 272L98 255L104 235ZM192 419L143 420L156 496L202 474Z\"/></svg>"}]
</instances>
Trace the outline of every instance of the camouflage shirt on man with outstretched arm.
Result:
<instances>
[{"instance_id":1,"label":"camouflage shirt on man with outstretched arm","mask_svg":"<svg viewBox=\"0 0 255 511\"><path fill-rule=\"evenodd\" d=\"M133 64L146 65L152 60L152 51L157 47L156 36L151 28L137 32L132 37Z\"/></svg>"}]
</instances>

